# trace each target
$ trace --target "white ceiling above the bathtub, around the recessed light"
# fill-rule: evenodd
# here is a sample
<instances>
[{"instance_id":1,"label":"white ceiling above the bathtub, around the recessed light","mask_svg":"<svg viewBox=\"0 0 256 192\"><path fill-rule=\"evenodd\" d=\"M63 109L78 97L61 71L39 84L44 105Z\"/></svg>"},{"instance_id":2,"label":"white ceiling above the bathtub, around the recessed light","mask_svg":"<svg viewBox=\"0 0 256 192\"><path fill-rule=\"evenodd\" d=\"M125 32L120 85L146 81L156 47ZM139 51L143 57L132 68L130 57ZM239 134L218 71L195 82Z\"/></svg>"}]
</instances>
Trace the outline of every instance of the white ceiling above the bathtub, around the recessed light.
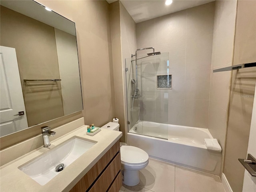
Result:
<instances>
[{"instance_id":1,"label":"white ceiling above the bathtub, around the recessed light","mask_svg":"<svg viewBox=\"0 0 256 192\"><path fill-rule=\"evenodd\" d=\"M108 3L116 0L107 0ZM165 0L120 0L136 23L206 4L214 0L173 0L169 6Z\"/></svg>"}]
</instances>

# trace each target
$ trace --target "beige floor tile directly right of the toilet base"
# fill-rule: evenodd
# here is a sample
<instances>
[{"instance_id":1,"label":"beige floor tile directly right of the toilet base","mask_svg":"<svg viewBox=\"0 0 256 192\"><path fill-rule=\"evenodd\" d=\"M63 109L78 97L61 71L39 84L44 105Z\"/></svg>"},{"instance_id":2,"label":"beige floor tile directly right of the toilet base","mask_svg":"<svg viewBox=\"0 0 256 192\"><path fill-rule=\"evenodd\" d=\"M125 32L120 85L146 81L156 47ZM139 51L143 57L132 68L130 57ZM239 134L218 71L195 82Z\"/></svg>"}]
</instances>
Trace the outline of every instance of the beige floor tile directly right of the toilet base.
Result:
<instances>
[{"instance_id":1,"label":"beige floor tile directly right of the toilet base","mask_svg":"<svg viewBox=\"0 0 256 192\"><path fill-rule=\"evenodd\" d=\"M148 166L140 170L140 183L155 192L174 192L175 166L150 158Z\"/></svg>"}]
</instances>

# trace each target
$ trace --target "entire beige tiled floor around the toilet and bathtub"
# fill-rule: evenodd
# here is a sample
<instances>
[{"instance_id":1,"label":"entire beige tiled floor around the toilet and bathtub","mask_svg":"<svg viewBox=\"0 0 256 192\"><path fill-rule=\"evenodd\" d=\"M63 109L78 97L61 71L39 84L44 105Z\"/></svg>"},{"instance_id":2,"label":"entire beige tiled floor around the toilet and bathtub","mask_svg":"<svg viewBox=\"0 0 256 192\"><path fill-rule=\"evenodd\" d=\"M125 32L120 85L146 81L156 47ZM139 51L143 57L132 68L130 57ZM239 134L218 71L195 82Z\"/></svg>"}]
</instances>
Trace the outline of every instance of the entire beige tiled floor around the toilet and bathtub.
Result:
<instances>
[{"instance_id":1,"label":"entire beige tiled floor around the toilet and bathtub","mask_svg":"<svg viewBox=\"0 0 256 192\"><path fill-rule=\"evenodd\" d=\"M225 192L220 178L150 158L140 170L140 183L123 184L119 192Z\"/></svg>"}]
</instances>

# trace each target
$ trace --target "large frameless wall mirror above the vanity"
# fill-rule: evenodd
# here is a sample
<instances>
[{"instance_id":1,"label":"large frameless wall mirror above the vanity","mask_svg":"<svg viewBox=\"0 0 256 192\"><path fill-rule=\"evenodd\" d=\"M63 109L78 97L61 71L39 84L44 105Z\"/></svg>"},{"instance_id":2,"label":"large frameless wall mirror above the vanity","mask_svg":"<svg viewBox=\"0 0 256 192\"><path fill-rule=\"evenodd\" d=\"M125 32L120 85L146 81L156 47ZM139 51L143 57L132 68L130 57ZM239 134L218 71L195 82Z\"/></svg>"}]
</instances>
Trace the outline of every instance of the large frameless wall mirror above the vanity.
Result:
<instances>
[{"instance_id":1,"label":"large frameless wall mirror above the vanity","mask_svg":"<svg viewBox=\"0 0 256 192\"><path fill-rule=\"evenodd\" d=\"M33 0L0 4L0 136L82 110L75 23Z\"/></svg>"}]
</instances>

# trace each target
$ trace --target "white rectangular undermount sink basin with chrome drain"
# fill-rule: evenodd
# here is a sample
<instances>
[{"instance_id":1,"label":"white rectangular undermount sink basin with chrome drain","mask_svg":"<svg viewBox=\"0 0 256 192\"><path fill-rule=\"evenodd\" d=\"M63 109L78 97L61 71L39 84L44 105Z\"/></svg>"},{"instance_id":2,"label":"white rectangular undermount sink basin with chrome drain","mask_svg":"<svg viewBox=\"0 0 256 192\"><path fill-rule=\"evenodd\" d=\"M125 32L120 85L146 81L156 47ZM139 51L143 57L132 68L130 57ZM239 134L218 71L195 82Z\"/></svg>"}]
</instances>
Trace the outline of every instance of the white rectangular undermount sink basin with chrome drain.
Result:
<instances>
[{"instance_id":1,"label":"white rectangular undermount sink basin with chrome drain","mask_svg":"<svg viewBox=\"0 0 256 192\"><path fill-rule=\"evenodd\" d=\"M40 156L18 167L40 185L45 185L60 172L55 168L63 163L64 169L96 144L96 141L72 137Z\"/></svg>"}]
</instances>

